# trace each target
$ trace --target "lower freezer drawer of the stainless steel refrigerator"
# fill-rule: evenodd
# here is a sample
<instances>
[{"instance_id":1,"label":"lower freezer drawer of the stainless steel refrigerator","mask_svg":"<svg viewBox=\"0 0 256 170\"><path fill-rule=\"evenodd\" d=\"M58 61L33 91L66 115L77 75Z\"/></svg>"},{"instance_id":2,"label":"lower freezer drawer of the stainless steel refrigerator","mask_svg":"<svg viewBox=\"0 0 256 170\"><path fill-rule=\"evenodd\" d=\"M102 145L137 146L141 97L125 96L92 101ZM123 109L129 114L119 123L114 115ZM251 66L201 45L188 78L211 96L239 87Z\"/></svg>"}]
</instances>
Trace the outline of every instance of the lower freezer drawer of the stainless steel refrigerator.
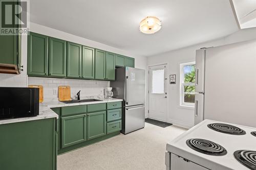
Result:
<instances>
[{"instance_id":1,"label":"lower freezer drawer of the stainless steel refrigerator","mask_svg":"<svg viewBox=\"0 0 256 170\"><path fill-rule=\"evenodd\" d=\"M130 133L145 127L145 105L125 107L124 129L122 133Z\"/></svg>"}]
</instances>

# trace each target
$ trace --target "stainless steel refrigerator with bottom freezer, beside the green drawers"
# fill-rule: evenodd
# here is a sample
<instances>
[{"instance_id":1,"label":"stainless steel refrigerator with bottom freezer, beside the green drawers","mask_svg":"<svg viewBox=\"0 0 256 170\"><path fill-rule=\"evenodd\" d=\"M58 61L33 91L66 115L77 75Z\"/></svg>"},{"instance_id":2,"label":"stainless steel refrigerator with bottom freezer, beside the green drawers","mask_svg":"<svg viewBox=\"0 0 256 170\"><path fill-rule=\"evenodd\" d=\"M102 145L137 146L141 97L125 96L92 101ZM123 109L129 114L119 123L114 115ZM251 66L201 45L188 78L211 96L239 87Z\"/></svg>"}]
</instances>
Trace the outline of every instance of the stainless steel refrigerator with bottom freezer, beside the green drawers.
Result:
<instances>
[{"instance_id":1,"label":"stainless steel refrigerator with bottom freezer, beside the green drawers","mask_svg":"<svg viewBox=\"0 0 256 170\"><path fill-rule=\"evenodd\" d=\"M127 134L145 126L145 70L121 67L115 71L110 87L114 98L123 99L121 132Z\"/></svg>"}]
</instances>

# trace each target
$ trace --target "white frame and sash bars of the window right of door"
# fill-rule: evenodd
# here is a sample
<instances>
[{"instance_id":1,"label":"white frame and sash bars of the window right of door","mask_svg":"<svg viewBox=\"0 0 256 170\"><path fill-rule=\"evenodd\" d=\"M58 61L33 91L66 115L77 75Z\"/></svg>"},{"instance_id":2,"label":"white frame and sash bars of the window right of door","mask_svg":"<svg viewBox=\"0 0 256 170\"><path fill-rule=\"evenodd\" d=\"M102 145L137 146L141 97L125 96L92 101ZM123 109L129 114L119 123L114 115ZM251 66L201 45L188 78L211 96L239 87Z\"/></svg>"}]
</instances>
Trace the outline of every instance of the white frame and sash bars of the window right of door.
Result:
<instances>
[{"instance_id":1,"label":"white frame and sash bars of the window right of door","mask_svg":"<svg viewBox=\"0 0 256 170\"><path fill-rule=\"evenodd\" d=\"M184 86L195 86L196 83L184 83L184 66L187 65L196 65L196 62L188 62L188 63L181 63L180 64L180 107L185 107L185 108L195 108L195 103L186 103L184 102L184 94L188 94L188 92L184 92ZM189 94L196 94L195 93L189 93Z\"/></svg>"}]
</instances>

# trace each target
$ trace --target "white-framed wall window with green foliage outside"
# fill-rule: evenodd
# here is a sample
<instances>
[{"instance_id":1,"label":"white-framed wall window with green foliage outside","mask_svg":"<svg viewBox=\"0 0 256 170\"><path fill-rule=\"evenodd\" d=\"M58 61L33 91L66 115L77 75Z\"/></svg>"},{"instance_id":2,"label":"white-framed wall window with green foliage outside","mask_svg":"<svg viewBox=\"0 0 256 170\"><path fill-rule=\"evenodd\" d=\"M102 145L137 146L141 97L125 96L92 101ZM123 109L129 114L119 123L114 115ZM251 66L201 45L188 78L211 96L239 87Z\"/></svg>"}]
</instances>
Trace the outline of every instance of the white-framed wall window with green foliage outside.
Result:
<instances>
[{"instance_id":1,"label":"white-framed wall window with green foliage outside","mask_svg":"<svg viewBox=\"0 0 256 170\"><path fill-rule=\"evenodd\" d=\"M195 62L180 64L180 106L195 107Z\"/></svg>"}]
</instances>

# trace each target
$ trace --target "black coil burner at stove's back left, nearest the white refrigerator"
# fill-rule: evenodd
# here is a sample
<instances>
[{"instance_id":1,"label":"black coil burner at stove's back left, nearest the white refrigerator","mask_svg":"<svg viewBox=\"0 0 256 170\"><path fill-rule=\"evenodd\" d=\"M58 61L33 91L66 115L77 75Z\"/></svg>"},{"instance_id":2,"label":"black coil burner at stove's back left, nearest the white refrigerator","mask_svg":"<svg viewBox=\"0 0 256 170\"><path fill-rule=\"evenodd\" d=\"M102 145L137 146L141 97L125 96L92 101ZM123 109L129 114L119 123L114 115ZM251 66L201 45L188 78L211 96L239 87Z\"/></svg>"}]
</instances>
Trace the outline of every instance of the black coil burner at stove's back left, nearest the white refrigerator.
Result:
<instances>
[{"instance_id":1,"label":"black coil burner at stove's back left, nearest the white refrigerator","mask_svg":"<svg viewBox=\"0 0 256 170\"><path fill-rule=\"evenodd\" d=\"M245 135L246 132L236 126L232 125L227 125L227 124L209 124L207 125L208 128L221 132L221 133L226 133L226 134L231 134L231 135Z\"/></svg>"}]
</instances>

